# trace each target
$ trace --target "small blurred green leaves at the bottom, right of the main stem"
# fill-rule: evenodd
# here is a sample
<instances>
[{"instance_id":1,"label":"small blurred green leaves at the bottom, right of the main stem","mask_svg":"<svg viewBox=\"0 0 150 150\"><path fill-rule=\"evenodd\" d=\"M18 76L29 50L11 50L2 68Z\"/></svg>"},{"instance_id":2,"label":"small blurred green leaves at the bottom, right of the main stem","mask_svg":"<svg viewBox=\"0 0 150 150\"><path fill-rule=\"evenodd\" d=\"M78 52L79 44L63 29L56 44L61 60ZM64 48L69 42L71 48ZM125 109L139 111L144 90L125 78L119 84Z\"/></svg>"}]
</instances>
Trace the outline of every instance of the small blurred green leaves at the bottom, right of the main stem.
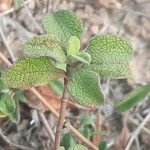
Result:
<instances>
[{"instance_id":1,"label":"small blurred green leaves at the bottom, right of the main stem","mask_svg":"<svg viewBox=\"0 0 150 150\"><path fill-rule=\"evenodd\" d=\"M80 131L80 133L82 133L82 135L84 135L89 140L95 134L99 134L101 136L106 135L104 131L96 131L94 119L91 115L82 115L77 129L78 131ZM106 150L105 141L100 141L97 144L99 145L99 150ZM88 148L83 146L69 132L64 134L61 146L64 148L64 150L88 150Z\"/></svg>"}]
</instances>

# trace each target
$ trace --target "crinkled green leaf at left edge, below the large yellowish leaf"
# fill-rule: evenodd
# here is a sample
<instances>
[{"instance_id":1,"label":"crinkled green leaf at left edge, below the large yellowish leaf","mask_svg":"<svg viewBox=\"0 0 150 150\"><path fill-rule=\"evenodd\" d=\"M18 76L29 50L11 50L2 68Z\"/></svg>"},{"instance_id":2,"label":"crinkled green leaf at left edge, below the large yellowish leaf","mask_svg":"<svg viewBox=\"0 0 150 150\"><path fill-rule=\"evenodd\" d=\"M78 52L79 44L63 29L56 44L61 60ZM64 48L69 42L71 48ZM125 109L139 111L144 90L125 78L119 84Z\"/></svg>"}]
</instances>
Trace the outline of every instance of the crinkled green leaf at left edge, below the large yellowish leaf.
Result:
<instances>
[{"instance_id":1,"label":"crinkled green leaf at left edge, below the large yellowish leaf","mask_svg":"<svg viewBox=\"0 0 150 150\"><path fill-rule=\"evenodd\" d=\"M7 94L0 96L0 112L12 120L16 119L16 102Z\"/></svg>"}]
</instances>

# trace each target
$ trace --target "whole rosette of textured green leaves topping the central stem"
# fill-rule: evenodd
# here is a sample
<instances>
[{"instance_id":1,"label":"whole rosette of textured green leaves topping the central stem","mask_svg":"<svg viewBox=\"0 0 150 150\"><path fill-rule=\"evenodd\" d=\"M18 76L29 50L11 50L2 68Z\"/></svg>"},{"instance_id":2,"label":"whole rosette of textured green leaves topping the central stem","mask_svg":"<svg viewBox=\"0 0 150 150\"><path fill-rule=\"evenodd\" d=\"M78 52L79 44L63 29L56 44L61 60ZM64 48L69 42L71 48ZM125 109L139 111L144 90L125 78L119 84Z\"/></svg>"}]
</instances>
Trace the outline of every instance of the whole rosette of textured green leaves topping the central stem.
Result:
<instances>
[{"instance_id":1,"label":"whole rosette of textured green leaves topping the central stem","mask_svg":"<svg viewBox=\"0 0 150 150\"><path fill-rule=\"evenodd\" d=\"M24 58L2 75L7 87L54 85L54 80L67 76L70 96L80 104L98 107L104 102L101 79L132 77L128 63L133 49L124 36L96 35L81 50L83 25L73 12L45 14L41 23L45 34L26 42Z\"/></svg>"}]
</instances>

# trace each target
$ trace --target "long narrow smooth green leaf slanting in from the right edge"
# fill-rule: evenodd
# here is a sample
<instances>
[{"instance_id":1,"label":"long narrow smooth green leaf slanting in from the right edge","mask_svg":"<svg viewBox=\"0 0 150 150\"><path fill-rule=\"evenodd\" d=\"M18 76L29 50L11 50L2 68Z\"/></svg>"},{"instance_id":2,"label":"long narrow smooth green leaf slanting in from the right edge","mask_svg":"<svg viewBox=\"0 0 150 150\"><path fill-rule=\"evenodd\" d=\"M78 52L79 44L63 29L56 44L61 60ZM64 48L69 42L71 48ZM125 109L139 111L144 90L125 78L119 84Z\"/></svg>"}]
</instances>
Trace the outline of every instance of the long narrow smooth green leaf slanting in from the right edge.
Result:
<instances>
[{"instance_id":1,"label":"long narrow smooth green leaf slanting in from the right edge","mask_svg":"<svg viewBox=\"0 0 150 150\"><path fill-rule=\"evenodd\" d=\"M121 102L117 103L115 108L119 112L126 111L142 101L148 94L150 94L150 85L140 86L129 93Z\"/></svg>"}]
</instances>

